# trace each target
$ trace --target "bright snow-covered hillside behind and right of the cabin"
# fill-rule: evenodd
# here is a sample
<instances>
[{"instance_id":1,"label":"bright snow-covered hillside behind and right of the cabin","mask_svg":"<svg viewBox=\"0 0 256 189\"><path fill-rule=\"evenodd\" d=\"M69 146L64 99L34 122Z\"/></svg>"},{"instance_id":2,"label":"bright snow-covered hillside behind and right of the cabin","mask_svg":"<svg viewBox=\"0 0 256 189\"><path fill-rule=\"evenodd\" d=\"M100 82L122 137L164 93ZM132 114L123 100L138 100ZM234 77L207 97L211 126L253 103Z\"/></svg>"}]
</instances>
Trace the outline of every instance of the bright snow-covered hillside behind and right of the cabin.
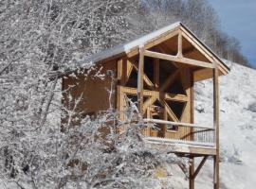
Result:
<instances>
[{"instance_id":1,"label":"bright snow-covered hillside behind and right of the cabin","mask_svg":"<svg viewBox=\"0 0 256 189\"><path fill-rule=\"evenodd\" d=\"M256 71L227 62L231 71L220 77L221 188L254 189L256 185ZM212 83L196 85L195 122L212 125ZM182 174L174 173L182 176ZM195 188L212 188L212 162L197 176ZM174 178L175 188L188 180Z\"/></svg>"}]
</instances>

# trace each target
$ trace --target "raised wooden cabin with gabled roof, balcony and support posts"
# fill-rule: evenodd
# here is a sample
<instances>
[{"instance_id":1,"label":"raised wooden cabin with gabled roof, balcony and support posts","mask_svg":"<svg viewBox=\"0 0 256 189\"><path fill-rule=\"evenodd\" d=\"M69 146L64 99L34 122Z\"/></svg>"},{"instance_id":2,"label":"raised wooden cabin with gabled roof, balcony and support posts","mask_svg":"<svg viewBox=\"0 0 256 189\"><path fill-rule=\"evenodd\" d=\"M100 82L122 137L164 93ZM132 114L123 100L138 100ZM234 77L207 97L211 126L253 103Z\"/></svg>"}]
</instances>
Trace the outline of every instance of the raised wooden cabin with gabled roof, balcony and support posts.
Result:
<instances>
[{"instance_id":1,"label":"raised wooden cabin with gabled roof, balcony and support posts","mask_svg":"<svg viewBox=\"0 0 256 189\"><path fill-rule=\"evenodd\" d=\"M128 98L137 102L145 124L158 128L143 130L148 142L172 145L177 155L190 158L190 189L209 157L214 160L214 189L219 188L218 77L227 75L229 67L190 29L174 23L96 54L86 62L95 63L101 73L111 70L112 77L117 78L116 93L110 104L106 88L110 88L111 77L64 77L63 90L75 85L72 97L82 97L78 112L92 115L110 106L123 111ZM193 124L193 85L208 78L213 79L213 127ZM202 161L195 167L194 158L199 157Z\"/></svg>"}]
</instances>

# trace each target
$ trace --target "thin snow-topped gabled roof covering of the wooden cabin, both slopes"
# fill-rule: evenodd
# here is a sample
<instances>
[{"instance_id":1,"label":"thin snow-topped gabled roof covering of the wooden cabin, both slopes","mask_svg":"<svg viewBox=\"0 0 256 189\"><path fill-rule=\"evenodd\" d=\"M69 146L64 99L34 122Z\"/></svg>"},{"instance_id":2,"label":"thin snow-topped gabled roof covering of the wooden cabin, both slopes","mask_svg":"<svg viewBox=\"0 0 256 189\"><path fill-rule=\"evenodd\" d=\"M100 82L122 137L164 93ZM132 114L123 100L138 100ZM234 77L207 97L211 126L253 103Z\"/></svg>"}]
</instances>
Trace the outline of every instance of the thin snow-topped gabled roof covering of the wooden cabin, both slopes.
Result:
<instances>
[{"instance_id":1,"label":"thin snow-topped gabled roof covering of the wooden cabin, both slopes","mask_svg":"<svg viewBox=\"0 0 256 189\"><path fill-rule=\"evenodd\" d=\"M187 32L189 32L189 34L192 35L192 38L197 43L200 43L208 51L208 53L210 53L210 56L218 61L218 64L221 64L219 66L221 66L225 70L224 73L222 73L222 74L226 75L229 73L229 66L226 65L223 60L221 60L215 53L213 53L213 51L210 49L210 47L208 47L205 43L202 43L196 37L196 35L193 34L192 31L187 26L184 26L181 22L176 22L170 26L162 27L162 28L155 30L147 35L144 35L132 42L122 43L122 44L119 44L112 48L109 48L107 50L103 50L100 53L96 53L90 57L86 57L86 58L80 60L79 64L83 67L83 66L88 65L88 63L102 62L103 60L107 60L112 57L118 58L119 56L128 54L128 53L132 52L133 50L138 49L142 45L151 43L151 42L155 41L156 39L161 38L166 33L171 33L173 30L177 29L177 27L182 27Z\"/></svg>"}]
</instances>

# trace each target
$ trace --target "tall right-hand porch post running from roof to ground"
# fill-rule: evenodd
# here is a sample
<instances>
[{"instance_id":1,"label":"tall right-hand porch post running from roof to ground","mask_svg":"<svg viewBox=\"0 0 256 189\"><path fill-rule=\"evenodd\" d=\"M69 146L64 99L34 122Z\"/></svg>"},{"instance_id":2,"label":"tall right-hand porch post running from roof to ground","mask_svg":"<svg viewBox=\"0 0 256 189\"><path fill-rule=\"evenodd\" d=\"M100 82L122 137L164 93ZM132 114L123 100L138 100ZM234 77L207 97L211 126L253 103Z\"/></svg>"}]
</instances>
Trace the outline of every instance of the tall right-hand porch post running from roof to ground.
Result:
<instances>
[{"instance_id":1,"label":"tall right-hand porch post running from roof to ground","mask_svg":"<svg viewBox=\"0 0 256 189\"><path fill-rule=\"evenodd\" d=\"M213 126L215 129L216 155L214 156L214 189L219 189L219 160L220 160L220 142L219 142L219 73L216 61L213 68Z\"/></svg>"}]
</instances>

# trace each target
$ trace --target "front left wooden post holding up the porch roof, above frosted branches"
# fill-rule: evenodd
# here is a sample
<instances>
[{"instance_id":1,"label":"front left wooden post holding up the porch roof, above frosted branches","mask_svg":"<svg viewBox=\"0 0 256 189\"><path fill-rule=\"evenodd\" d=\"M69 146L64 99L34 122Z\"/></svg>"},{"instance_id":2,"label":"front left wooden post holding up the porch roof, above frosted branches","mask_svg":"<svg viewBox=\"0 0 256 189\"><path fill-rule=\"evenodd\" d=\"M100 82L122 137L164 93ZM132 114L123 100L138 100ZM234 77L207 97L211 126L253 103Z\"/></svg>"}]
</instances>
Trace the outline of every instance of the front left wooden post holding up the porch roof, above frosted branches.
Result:
<instances>
[{"instance_id":1,"label":"front left wooden post holding up the porch roof, above frosted branches","mask_svg":"<svg viewBox=\"0 0 256 189\"><path fill-rule=\"evenodd\" d=\"M139 60L137 71L137 108L143 113L143 75L144 75L144 47L139 47Z\"/></svg>"}]
</instances>

